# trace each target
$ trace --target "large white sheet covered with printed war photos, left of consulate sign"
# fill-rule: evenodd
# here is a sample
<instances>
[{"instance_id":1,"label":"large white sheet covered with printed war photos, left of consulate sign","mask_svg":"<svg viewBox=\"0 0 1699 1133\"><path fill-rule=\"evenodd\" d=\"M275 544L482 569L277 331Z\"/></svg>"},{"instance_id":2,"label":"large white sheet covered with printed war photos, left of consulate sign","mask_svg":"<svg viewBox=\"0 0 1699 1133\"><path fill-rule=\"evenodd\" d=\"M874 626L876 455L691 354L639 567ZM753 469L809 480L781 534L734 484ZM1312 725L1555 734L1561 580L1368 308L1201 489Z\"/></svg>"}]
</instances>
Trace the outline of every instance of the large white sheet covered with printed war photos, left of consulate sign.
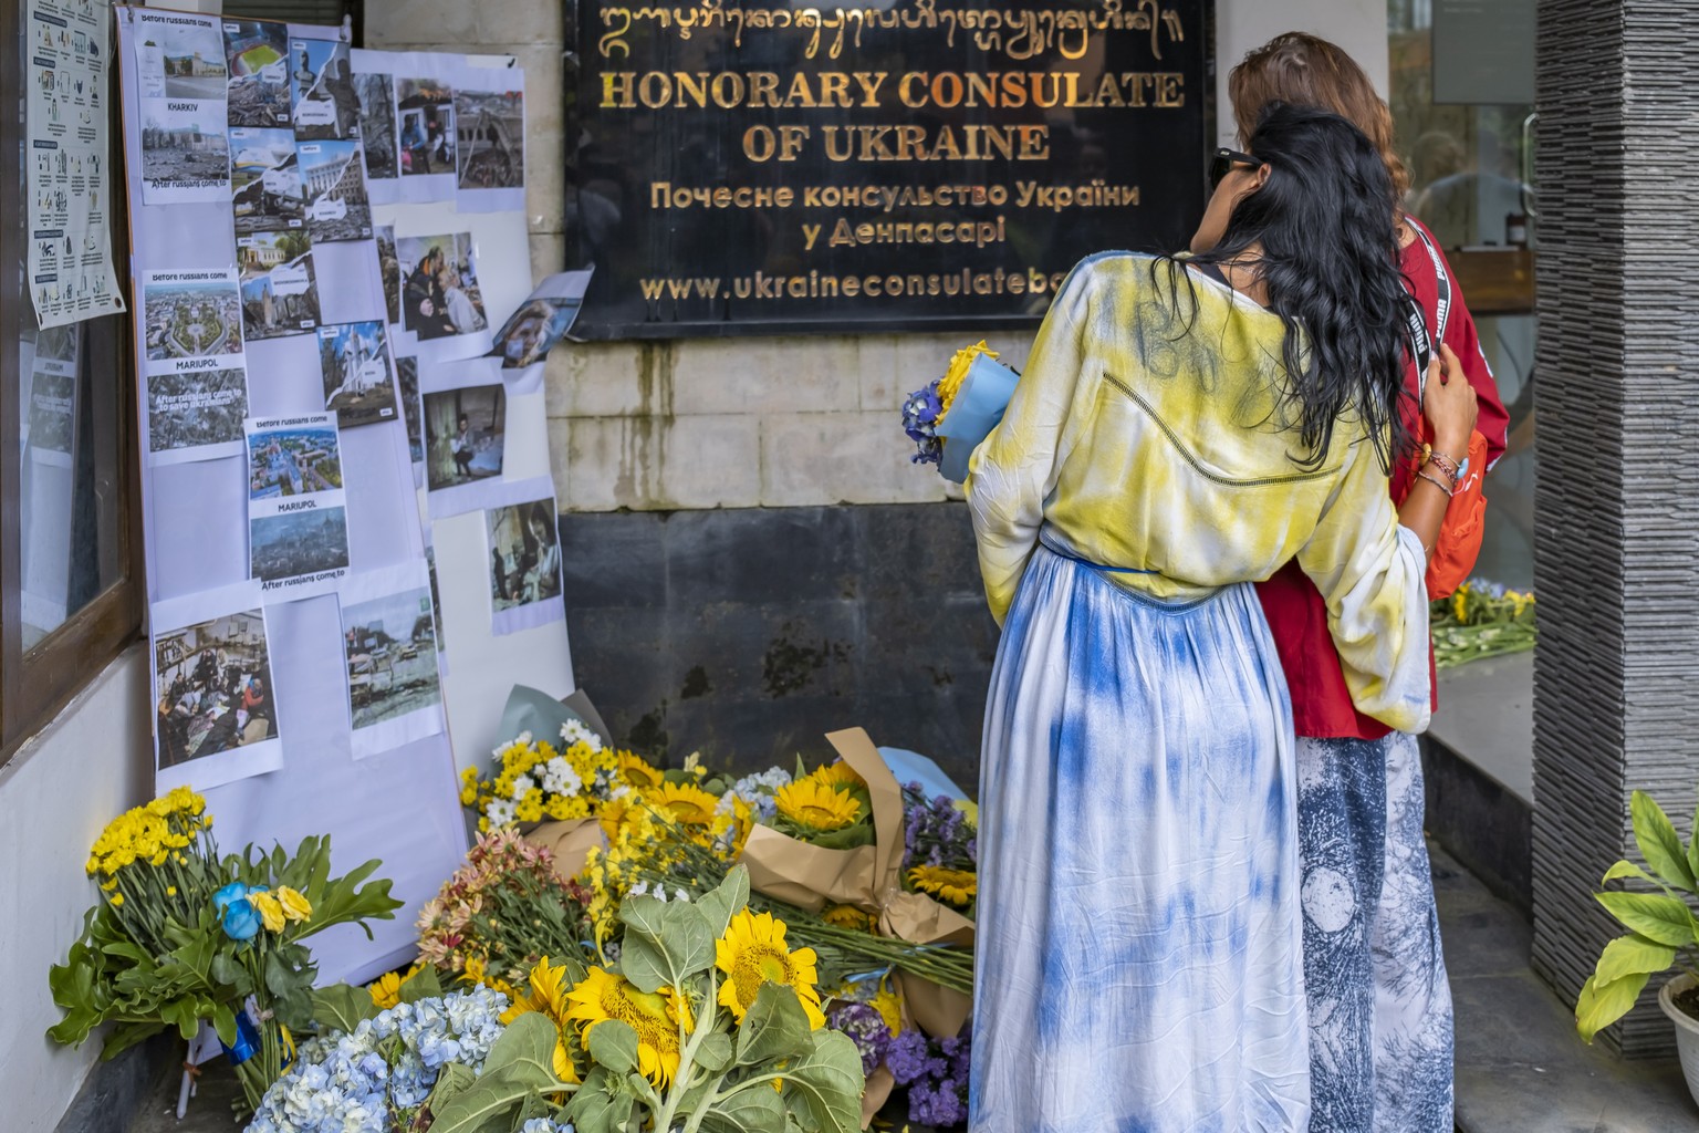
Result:
<instances>
[{"instance_id":1,"label":"large white sheet covered with printed war photos, left of consulate sign","mask_svg":"<svg viewBox=\"0 0 1699 1133\"><path fill-rule=\"evenodd\" d=\"M328 831L423 900L466 848L450 705L476 727L530 683L474 652L457 693L445 606L467 651L554 627L571 691L540 392L486 357L530 285L523 73L165 8L117 29L156 781L214 788L241 837Z\"/></svg>"}]
</instances>

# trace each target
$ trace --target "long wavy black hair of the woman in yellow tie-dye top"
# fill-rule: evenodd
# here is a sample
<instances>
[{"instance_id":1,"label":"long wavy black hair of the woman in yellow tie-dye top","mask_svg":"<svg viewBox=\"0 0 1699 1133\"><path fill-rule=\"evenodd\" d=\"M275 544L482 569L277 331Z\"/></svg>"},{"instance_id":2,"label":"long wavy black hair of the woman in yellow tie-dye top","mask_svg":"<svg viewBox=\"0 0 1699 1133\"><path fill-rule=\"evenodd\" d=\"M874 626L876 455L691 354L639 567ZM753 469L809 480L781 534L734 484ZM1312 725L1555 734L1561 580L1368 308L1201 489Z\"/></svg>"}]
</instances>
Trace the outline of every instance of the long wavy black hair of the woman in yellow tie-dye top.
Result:
<instances>
[{"instance_id":1,"label":"long wavy black hair of the woman in yellow tie-dye top","mask_svg":"<svg viewBox=\"0 0 1699 1133\"><path fill-rule=\"evenodd\" d=\"M1222 241L1196 263L1249 267L1286 324L1286 425L1317 467L1334 425L1356 418L1383 469L1410 445L1400 401L1410 360L1410 309L1398 268L1395 197L1374 144L1337 114L1273 104L1245 143L1269 166ZM1261 248L1261 253L1247 251ZM1189 272L1179 272L1189 282Z\"/></svg>"}]
</instances>

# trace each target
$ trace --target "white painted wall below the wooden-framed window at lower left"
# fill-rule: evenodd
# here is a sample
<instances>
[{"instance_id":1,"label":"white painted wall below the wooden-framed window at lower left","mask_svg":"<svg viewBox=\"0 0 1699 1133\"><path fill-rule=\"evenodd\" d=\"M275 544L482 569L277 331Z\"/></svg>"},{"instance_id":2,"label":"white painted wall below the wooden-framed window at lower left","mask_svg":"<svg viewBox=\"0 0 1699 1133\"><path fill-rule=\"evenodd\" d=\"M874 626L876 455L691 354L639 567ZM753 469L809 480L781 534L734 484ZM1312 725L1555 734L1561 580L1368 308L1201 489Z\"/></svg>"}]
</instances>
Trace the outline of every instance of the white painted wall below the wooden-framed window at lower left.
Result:
<instances>
[{"instance_id":1,"label":"white painted wall below the wooden-framed window at lower left","mask_svg":"<svg viewBox=\"0 0 1699 1133\"><path fill-rule=\"evenodd\" d=\"M0 769L0 1104L7 1133L48 1133L100 1043L78 1051L44 1031L59 1021L48 968L82 933L95 888L83 861L100 829L153 795L148 656L133 645Z\"/></svg>"}]
</instances>

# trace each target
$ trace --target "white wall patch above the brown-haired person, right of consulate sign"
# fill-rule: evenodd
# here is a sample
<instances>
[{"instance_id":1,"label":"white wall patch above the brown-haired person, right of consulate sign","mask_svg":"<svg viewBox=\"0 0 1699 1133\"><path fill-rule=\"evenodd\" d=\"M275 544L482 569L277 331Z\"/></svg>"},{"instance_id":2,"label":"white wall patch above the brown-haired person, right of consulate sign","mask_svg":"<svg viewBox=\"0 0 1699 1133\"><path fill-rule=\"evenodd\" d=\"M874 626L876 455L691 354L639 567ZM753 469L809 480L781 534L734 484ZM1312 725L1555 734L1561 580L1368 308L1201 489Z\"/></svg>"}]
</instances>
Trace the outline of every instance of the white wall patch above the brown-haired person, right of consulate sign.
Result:
<instances>
[{"instance_id":1,"label":"white wall patch above the brown-haired person, right of consulate sign","mask_svg":"<svg viewBox=\"0 0 1699 1133\"><path fill-rule=\"evenodd\" d=\"M1247 53L1281 32L1310 32L1351 53L1386 97L1386 0L1216 0L1215 5L1215 105L1218 144L1237 144L1233 104L1227 99L1227 73Z\"/></svg>"}]
</instances>

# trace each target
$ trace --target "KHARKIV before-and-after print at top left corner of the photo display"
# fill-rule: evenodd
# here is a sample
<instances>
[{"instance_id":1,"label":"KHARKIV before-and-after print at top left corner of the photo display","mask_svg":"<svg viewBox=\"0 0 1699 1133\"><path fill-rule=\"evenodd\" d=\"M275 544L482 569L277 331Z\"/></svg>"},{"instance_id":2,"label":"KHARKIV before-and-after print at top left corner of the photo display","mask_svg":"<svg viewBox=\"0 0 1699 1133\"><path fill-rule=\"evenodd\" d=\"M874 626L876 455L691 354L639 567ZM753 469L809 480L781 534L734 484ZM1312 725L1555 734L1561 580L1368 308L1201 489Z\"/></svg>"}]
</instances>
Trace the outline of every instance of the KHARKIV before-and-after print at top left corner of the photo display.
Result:
<instances>
[{"instance_id":1,"label":"KHARKIV before-and-after print at top left corner of the photo display","mask_svg":"<svg viewBox=\"0 0 1699 1133\"><path fill-rule=\"evenodd\" d=\"M141 195L146 204L229 197L229 65L216 15L136 14Z\"/></svg>"}]
</instances>

